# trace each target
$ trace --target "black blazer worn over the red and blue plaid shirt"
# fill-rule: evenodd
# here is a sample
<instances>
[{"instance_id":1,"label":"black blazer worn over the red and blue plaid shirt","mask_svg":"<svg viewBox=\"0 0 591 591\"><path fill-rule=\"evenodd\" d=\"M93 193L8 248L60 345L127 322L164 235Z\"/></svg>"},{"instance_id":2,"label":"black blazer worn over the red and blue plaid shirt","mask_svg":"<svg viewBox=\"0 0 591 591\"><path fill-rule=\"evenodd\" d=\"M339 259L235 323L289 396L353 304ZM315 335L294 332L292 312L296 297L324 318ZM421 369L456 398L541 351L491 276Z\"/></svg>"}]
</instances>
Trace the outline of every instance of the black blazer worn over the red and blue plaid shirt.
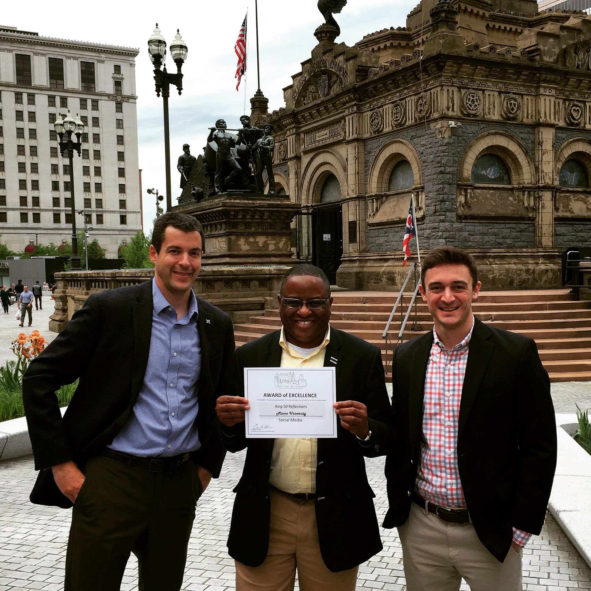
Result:
<instances>
[{"instance_id":1,"label":"black blazer worn over the red and blue plaid shirt","mask_svg":"<svg viewBox=\"0 0 591 591\"><path fill-rule=\"evenodd\" d=\"M397 445L386 459L384 527L404 524L423 438L423 394L433 332L398 346L392 362ZM556 469L550 379L535 342L475 321L460 402L460 480L476 534L499 561L512 528L539 534Z\"/></svg>"}]
</instances>

